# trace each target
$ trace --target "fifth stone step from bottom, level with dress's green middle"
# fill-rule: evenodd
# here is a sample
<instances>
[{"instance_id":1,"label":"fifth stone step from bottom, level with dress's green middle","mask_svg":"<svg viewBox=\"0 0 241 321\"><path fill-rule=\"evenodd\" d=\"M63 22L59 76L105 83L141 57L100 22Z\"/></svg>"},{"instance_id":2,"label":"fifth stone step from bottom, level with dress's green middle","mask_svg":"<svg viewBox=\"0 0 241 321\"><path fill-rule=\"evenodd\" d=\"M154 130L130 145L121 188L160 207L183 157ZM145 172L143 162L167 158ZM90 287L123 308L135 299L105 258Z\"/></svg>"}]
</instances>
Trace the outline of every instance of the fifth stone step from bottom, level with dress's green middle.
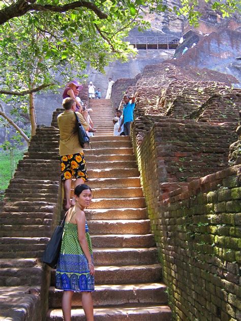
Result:
<instances>
[{"instance_id":1,"label":"fifth stone step from bottom, level with dress's green middle","mask_svg":"<svg viewBox=\"0 0 241 321\"><path fill-rule=\"evenodd\" d=\"M153 247L155 246L153 234L113 234L113 235L92 235L94 247Z\"/></svg>"}]
</instances>

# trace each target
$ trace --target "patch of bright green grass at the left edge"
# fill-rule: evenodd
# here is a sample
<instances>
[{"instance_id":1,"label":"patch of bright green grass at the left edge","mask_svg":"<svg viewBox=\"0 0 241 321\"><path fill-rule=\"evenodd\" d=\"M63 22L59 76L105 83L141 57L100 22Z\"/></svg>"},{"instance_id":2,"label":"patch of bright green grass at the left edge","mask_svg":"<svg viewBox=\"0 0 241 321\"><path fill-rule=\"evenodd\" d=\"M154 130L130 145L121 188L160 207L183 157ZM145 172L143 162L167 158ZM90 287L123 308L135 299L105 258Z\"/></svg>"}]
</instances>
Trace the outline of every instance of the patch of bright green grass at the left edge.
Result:
<instances>
[{"instance_id":1,"label":"patch of bright green grass at the left edge","mask_svg":"<svg viewBox=\"0 0 241 321\"><path fill-rule=\"evenodd\" d=\"M25 150L0 151L0 198L3 198L5 189L13 177L19 159L22 159Z\"/></svg>"}]
</instances>

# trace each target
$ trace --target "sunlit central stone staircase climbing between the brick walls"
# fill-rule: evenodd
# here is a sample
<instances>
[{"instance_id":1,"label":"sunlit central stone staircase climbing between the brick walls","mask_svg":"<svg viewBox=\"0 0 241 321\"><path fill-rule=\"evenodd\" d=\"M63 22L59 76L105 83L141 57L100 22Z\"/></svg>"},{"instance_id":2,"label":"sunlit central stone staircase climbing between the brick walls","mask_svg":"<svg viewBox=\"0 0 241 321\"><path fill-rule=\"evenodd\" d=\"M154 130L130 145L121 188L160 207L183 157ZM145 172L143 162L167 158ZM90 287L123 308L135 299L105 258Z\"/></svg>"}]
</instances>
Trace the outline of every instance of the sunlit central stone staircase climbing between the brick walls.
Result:
<instances>
[{"instance_id":1,"label":"sunlit central stone staircase climbing between the brick walls","mask_svg":"<svg viewBox=\"0 0 241 321\"><path fill-rule=\"evenodd\" d=\"M168 321L171 310L130 137L110 136L113 112L109 101L91 100L89 107L98 129L85 150L88 185L94 195L86 218L96 266L95 320ZM55 290L54 278L52 270L47 321L63 320L62 292ZM78 293L73 298L72 319L85 319Z\"/></svg>"}]
</instances>

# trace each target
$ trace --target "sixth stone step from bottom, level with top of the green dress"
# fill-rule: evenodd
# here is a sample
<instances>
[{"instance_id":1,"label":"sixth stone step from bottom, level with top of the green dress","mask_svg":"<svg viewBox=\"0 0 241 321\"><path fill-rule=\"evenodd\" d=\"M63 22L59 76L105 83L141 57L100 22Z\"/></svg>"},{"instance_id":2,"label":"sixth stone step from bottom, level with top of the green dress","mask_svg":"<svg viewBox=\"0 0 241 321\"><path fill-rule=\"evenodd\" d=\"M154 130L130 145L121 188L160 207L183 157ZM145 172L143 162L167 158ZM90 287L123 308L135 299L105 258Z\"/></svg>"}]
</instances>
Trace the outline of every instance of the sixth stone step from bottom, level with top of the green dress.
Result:
<instances>
[{"instance_id":1,"label":"sixth stone step from bottom, level with top of the green dress","mask_svg":"<svg viewBox=\"0 0 241 321\"><path fill-rule=\"evenodd\" d=\"M92 235L99 234L149 234L148 219L129 220L90 220L89 231Z\"/></svg>"}]
</instances>

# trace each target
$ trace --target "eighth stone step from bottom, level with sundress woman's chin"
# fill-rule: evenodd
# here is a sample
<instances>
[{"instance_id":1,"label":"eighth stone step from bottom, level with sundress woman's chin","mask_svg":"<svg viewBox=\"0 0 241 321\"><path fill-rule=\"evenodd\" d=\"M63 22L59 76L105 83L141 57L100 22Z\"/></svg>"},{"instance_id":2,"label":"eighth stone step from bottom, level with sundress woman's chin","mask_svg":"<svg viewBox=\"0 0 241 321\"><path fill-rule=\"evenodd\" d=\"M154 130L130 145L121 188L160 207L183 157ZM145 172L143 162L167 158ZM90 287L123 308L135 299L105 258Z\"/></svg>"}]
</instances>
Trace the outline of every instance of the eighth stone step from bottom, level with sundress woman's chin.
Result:
<instances>
[{"instance_id":1,"label":"eighth stone step from bottom, level with sundress woman's chin","mask_svg":"<svg viewBox=\"0 0 241 321\"><path fill-rule=\"evenodd\" d=\"M117 199L93 199L88 209L96 208L123 208L125 204L128 208L144 208L145 199L143 197L136 198L117 198Z\"/></svg>"}]
</instances>

